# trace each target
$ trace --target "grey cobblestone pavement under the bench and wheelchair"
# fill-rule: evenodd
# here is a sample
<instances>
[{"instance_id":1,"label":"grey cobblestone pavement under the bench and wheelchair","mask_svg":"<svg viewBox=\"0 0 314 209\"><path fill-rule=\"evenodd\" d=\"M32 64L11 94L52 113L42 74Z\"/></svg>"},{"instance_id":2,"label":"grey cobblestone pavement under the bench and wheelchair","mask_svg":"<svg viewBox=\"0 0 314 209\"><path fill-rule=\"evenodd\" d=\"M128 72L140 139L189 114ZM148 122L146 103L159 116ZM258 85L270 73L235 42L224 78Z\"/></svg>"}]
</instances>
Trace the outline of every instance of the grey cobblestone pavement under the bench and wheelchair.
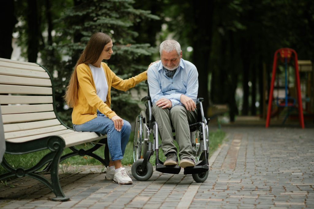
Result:
<instances>
[{"instance_id":1,"label":"grey cobblestone pavement under the bench and wheelchair","mask_svg":"<svg viewBox=\"0 0 314 209\"><path fill-rule=\"evenodd\" d=\"M224 130L204 183L155 171L148 181L118 185L104 180L103 167L63 168L60 181L70 201L50 201L49 189L23 178L9 182L14 188L0 187L0 208L314 208L314 129Z\"/></svg>"}]
</instances>

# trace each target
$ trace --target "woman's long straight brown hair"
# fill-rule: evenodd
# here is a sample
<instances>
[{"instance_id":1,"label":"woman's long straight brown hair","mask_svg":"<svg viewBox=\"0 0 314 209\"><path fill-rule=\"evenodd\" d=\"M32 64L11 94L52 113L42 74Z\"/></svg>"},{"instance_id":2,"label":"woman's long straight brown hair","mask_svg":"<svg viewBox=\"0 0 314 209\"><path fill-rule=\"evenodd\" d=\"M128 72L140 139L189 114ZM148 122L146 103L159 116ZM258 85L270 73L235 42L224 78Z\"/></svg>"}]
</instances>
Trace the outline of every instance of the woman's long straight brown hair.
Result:
<instances>
[{"instance_id":1,"label":"woman's long straight brown hair","mask_svg":"<svg viewBox=\"0 0 314 209\"><path fill-rule=\"evenodd\" d=\"M67 91L64 95L65 102L69 107L74 107L78 102L78 76L76 73L77 66L82 63L96 63L105 45L110 41L110 36L101 32L95 33L92 37L90 37L84 51L76 62L69 85L67 86Z\"/></svg>"}]
</instances>

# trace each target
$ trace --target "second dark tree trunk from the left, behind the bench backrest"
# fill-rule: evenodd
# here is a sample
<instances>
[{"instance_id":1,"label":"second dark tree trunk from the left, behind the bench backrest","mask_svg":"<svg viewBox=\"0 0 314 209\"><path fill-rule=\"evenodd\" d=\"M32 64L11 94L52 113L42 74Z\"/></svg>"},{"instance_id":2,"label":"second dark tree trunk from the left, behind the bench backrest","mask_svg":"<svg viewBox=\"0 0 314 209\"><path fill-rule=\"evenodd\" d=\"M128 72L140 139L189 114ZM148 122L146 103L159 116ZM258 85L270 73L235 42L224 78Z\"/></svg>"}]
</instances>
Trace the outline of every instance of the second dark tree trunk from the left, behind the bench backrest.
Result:
<instances>
[{"instance_id":1,"label":"second dark tree trunk from the left, behind the bench backrest","mask_svg":"<svg viewBox=\"0 0 314 209\"><path fill-rule=\"evenodd\" d=\"M37 62L37 53L39 50L40 40L40 25L38 21L38 9L36 0L27 1L27 25L28 25L28 49L27 56L28 61L35 63Z\"/></svg>"}]
</instances>

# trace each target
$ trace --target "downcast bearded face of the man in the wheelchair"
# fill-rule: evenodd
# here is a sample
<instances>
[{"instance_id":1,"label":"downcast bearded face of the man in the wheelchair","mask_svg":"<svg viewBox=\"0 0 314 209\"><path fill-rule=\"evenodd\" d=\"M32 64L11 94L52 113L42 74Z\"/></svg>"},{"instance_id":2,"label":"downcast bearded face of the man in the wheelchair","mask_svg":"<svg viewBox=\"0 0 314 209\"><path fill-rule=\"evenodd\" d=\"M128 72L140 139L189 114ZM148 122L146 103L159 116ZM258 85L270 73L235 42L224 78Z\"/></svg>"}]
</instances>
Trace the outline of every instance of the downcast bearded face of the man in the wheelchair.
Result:
<instances>
[{"instance_id":1,"label":"downcast bearded face of the man in the wheelchair","mask_svg":"<svg viewBox=\"0 0 314 209\"><path fill-rule=\"evenodd\" d=\"M160 55L161 63L167 70L175 70L180 65L180 60L182 58L182 51L180 55L176 52L176 50L172 50L171 52L166 52L163 50Z\"/></svg>"}]
</instances>

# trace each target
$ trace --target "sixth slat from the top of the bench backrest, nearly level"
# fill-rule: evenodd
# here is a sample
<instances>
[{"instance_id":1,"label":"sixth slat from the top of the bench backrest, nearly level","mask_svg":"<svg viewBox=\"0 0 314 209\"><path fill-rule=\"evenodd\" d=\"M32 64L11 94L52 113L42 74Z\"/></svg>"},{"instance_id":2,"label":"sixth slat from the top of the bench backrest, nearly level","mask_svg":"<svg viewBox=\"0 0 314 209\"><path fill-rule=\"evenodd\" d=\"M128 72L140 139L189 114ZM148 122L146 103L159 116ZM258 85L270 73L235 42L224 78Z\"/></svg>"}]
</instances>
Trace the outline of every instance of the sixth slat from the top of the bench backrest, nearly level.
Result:
<instances>
[{"instance_id":1,"label":"sixth slat from the top of the bench backrest, nearly level","mask_svg":"<svg viewBox=\"0 0 314 209\"><path fill-rule=\"evenodd\" d=\"M0 95L1 104L41 104L52 103L52 96L7 96Z\"/></svg>"}]
</instances>

